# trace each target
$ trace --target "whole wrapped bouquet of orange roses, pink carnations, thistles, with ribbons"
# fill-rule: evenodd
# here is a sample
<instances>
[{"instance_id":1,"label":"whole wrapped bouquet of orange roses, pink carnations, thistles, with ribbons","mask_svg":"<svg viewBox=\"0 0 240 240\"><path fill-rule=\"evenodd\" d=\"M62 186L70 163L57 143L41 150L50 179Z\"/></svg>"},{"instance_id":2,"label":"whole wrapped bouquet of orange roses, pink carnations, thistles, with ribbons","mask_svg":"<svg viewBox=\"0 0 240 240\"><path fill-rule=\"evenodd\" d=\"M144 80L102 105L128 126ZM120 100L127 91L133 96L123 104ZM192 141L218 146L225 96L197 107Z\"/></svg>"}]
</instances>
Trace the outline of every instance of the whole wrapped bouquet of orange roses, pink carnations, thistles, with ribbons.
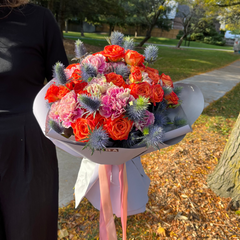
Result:
<instances>
[{"instance_id":1,"label":"whole wrapped bouquet of orange roses, pink carnations, thistles, with ribbons","mask_svg":"<svg viewBox=\"0 0 240 240\"><path fill-rule=\"evenodd\" d=\"M116 211L122 217L126 239L129 197L125 163L138 157L129 168L141 166L141 155L181 141L204 105L198 87L174 85L170 76L159 75L158 70L149 67L157 60L157 47L147 46L142 55L133 50L132 39L123 37L113 32L108 39L110 45L94 54L88 54L84 44L76 41L77 63L66 68L56 63L53 80L39 92L33 106L42 131L56 146L100 164L97 174L95 165L91 172L81 166L79 182L86 176L88 182L76 189L82 191L78 202L88 193L94 206L101 209L101 239L117 239L111 199L121 203ZM115 198L116 191L113 196L110 194L113 169L119 172L119 195ZM90 192L98 177L98 190ZM147 194L148 179L144 184ZM96 191L100 192L97 203ZM143 209L141 204L138 208L129 212Z\"/></svg>"}]
</instances>

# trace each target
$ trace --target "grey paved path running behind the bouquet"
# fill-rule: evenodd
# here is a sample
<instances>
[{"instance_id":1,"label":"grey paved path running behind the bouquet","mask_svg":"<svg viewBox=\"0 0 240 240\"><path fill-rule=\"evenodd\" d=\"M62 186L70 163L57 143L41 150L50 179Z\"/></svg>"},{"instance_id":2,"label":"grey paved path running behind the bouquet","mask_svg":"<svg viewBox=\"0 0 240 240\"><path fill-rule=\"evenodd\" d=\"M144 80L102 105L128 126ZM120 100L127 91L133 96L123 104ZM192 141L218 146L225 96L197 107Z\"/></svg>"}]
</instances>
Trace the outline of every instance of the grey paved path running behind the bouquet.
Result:
<instances>
[{"instance_id":1,"label":"grey paved path running behind the bouquet","mask_svg":"<svg viewBox=\"0 0 240 240\"><path fill-rule=\"evenodd\" d=\"M179 82L197 85L205 100L205 107L221 98L240 82L240 61L218 70L190 77ZM73 188L77 179L81 159L57 149L59 160L59 206L67 205L73 199Z\"/></svg>"}]
</instances>

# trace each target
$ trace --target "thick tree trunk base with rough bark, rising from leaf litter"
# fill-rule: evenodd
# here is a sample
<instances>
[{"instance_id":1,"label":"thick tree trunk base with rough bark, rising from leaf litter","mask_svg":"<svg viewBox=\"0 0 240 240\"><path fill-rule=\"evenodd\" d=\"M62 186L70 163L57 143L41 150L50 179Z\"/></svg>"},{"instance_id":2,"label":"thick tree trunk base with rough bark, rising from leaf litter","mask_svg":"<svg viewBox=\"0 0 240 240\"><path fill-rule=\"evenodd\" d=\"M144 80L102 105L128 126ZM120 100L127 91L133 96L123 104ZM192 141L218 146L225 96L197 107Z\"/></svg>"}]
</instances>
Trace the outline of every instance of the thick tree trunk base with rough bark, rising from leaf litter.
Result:
<instances>
[{"instance_id":1,"label":"thick tree trunk base with rough bark, rising from leaf litter","mask_svg":"<svg viewBox=\"0 0 240 240\"><path fill-rule=\"evenodd\" d=\"M220 197L232 198L235 209L240 206L240 114L223 154L207 179L208 186Z\"/></svg>"}]
</instances>

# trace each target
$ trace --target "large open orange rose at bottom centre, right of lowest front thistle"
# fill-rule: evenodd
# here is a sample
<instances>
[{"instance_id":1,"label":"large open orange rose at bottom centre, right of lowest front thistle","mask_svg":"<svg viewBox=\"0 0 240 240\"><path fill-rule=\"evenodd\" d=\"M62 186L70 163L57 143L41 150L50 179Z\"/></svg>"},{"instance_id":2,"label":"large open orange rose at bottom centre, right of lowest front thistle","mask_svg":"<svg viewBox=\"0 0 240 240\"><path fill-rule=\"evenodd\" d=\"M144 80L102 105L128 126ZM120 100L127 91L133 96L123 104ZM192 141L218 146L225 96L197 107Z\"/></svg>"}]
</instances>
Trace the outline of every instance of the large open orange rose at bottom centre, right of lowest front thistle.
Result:
<instances>
[{"instance_id":1,"label":"large open orange rose at bottom centre, right of lowest front thistle","mask_svg":"<svg viewBox=\"0 0 240 240\"><path fill-rule=\"evenodd\" d=\"M114 120L108 119L106 128L113 140L127 140L132 125L133 121L120 116Z\"/></svg>"}]
</instances>

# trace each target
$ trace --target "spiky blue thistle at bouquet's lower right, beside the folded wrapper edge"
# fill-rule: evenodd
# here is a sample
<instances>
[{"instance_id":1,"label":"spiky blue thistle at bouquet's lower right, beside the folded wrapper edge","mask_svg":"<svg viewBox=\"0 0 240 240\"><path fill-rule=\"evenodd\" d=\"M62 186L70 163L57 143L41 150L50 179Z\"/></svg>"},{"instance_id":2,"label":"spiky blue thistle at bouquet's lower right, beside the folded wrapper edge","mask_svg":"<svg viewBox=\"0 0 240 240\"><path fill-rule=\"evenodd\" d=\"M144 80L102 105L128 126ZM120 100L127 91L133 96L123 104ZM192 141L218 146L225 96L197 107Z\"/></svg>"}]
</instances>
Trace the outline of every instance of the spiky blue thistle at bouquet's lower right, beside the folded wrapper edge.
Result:
<instances>
[{"instance_id":1,"label":"spiky blue thistle at bouquet's lower right, beside the folded wrapper edge","mask_svg":"<svg viewBox=\"0 0 240 240\"><path fill-rule=\"evenodd\" d=\"M162 144L163 140L163 129L157 125L150 125L143 129L142 142L146 144L147 147L154 147L159 149L158 144Z\"/></svg>"}]
</instances>

